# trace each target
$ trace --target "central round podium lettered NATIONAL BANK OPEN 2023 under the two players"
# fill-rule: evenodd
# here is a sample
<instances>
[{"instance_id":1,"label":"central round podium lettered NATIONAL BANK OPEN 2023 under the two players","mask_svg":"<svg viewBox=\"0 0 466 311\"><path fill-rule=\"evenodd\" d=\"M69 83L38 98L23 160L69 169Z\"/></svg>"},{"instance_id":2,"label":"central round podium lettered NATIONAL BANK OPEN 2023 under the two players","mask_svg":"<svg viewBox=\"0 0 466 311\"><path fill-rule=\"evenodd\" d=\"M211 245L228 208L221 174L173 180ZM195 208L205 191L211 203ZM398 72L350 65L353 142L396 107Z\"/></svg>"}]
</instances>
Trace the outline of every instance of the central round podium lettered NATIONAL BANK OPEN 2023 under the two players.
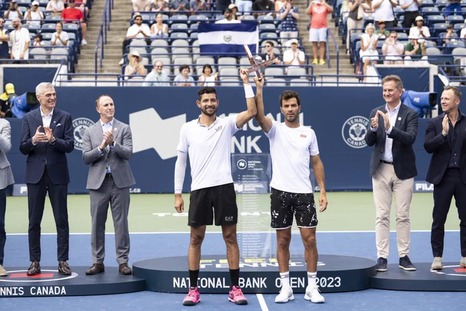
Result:
<instances>
[{"instance_id":1,"label":"central round podium lettered NATIONAL BANK OPEN 2023 under the two players","mask_svg":"<svg viewBox=\"0 0 466 311\"><path fill-rule=\"evenodd\" d=\"M278 293L281 288L278 262L275 258L240 261L240 286L243 293ZM321 293L365 290L376 275L376 262L352 256L320 255L317 284ZM154 258L133 264L133 275L145 279L146 289L164 293L186 293L188 290L187 256ZM305 293L307 269L304 257L291 257L290 282L294 293ZM200 293L225 293L230 288L226 256L203 256L199 279Z\"/></svg>"}]
</instances>

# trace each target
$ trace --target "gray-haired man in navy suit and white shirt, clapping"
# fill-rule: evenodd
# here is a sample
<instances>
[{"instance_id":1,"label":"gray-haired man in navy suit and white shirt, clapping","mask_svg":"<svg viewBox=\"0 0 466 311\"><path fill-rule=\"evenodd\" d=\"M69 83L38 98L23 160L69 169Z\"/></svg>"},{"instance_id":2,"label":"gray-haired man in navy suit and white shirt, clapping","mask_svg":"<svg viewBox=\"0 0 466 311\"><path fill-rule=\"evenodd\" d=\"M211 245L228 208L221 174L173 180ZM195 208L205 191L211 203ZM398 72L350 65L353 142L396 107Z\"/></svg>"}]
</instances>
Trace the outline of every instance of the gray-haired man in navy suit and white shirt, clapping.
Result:
<instances>
[{"instance_id":1,"label":"gray-haired man in navy suit and white shirt, clapping","mask_svg":"<svg viewBox=\"0 0 466 311\"><path fill-rule=\"evenodd\" d=\"M27 155L26 177L29 208L29 260L27 275L40 273L40 221L47 191L57 227L58 272L71 275L66 262L69 253L69 226L66 195L69 173L66 153L74 149L71 114L55 108L57 96L50 83L36 87L40 108L23 116L21 153Z\"/></svg>"}]
</instances>

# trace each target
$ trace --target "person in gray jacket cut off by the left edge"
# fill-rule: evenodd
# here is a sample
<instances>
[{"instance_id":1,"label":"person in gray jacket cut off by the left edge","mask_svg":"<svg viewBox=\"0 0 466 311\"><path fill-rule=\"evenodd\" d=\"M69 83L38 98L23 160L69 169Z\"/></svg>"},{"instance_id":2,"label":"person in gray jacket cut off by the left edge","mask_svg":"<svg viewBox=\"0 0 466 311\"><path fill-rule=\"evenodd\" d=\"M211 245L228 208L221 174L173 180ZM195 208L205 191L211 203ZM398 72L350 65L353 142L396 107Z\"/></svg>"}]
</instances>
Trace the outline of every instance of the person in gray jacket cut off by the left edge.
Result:
<instances>
[{"instance_id":1,"label":"person in gray jacket cut off by the left edge","mask_svg":"<svg viewBox=\"0 0 466 311\"><path fill-rule=\"evenodd\" d=\"M0 119L0 276L7 275L3 268L3 249L5 248L5 211L6 187L14 184L13 173L6 154L12 148L10 122Z\"/></svg>"}]
</instances>

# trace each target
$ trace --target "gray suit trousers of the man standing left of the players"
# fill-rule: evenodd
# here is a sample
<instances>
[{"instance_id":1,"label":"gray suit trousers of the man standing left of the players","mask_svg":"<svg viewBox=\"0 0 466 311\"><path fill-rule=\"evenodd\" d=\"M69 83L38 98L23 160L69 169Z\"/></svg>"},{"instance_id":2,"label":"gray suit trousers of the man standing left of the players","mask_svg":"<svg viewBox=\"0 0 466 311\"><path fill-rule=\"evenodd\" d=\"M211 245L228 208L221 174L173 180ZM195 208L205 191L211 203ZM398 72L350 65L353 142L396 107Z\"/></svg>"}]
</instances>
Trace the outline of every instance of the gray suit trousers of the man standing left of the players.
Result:
<instances>
[{"instance_id":1,"label":"gray suit trousers of the man standing left of the players","mask_svg":"<svg viewBox=\"0 0 466 311\"><path fill-rule=\"evenodd\" d=\"M128 229L128 211L130 210L130 187L118 188L113 179L103 179L97 190L90 192L90 216L92 230L90 245L94 264L103 263L105 258L105 224L108 214L108 203L112 210L115 229L116 262L128 262L130 254L130 231Z\"/></svg>"}]
</instances>

